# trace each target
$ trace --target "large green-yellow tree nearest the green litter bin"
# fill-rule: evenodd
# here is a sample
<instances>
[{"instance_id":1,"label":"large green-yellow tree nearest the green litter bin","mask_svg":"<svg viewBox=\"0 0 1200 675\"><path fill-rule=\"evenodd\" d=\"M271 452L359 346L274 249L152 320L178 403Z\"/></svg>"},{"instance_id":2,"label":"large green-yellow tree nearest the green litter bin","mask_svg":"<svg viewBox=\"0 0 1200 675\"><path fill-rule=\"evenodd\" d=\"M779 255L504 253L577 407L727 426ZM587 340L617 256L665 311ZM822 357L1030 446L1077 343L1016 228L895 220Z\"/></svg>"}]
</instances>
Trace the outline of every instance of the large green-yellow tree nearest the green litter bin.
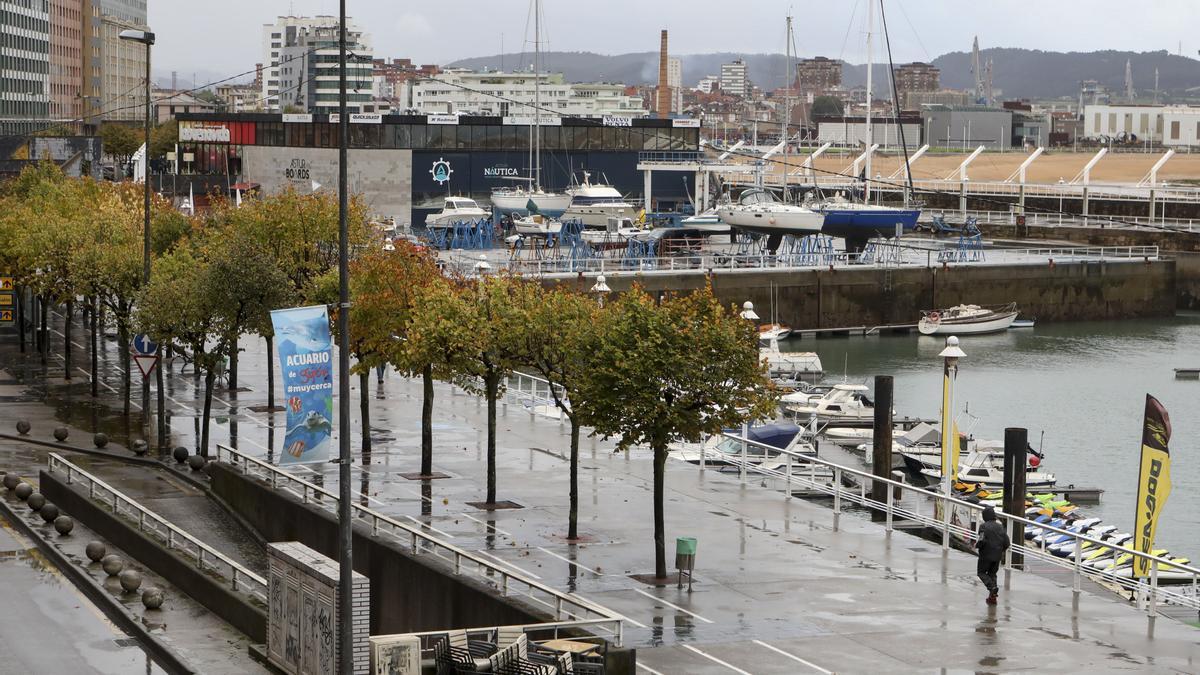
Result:
<instances>
[{"instance_id":1,"label":"large green-yellow tree nearest the green litter bin","mask_svg":"<svg viewBox=\"0 0 1200 675\"><path fill-rule=\"evenodd\" d=\"M701 441L774 412L754 327L722 307L712 287L656 304L640 287L601 312L580 390L584 424L618 449L654 452L654 574L666 577L662 500L668 446Z\"/></svg>"}]
</instances>

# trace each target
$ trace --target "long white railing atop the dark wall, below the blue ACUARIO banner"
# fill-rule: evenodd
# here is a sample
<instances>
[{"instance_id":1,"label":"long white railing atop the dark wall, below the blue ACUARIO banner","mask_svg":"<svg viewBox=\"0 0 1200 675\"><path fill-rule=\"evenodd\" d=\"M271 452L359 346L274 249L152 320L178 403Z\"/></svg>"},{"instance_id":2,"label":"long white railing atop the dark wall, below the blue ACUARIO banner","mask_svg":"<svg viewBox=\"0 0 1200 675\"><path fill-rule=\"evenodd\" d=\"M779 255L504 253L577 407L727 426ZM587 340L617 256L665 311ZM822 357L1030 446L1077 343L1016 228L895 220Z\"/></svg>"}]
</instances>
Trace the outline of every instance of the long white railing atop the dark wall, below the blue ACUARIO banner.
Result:
<instances>
[{"instance_id":1,"label":"long white railing atop the dark wall, below the blue ACUARIO banner","mask_svg":"<svg viewBox=\"0 0 1200 675\"><path fill-rule=\"evenodd\" d=\"M298 496L300 496L304 503L308 504L313 503L311 496L319 495L320 498L318 498L317 501L324 502L325 500L328 500L328 503L332 506L336 512L338 497L335 492L331 492L319 485L304 480L302 478L298 478L263 460L252 458L250 455L242 454L241 452L234 448L217 443L216 461L222 461L222 456L228 458L230 460L229 464L233 466L238 466L240 464L241 471L246 476L251 476L251 467L262 471L263 473L265 473L272 488L288 490L292 494L296 494ZM282 485L280 484L281 480L283 480ZM298 494L295 489L289 488L289 484L299 485L300 492ZM499 587L500 595L503 596L509 595L510 583L516 581L523 585L528 591L522 597L526 597L535 603L539 603L548 609L552 609L556 620L560 620L563 616L568 616L571 620L587 621L588 625L592 625L594 623L594 620L599 619L602 625L610 627L610 632L613 635L614 643L617 645L622 644L622 635L624 632L624 621L625 621L625 617L623 615L606 607L596 604L589 599L576 596L575 593L564 593L562 591L558 591L557 589L552 589L523 574L514 573L506 569L505 567L500 567L499 565L488 561L479 555L475 555L466 549L461 549L432 534L422 532L416 527L401 522L394 518L384 515L365 506L352 503L350 508L355 510L360 516L367 516L371 519L372 534L388 532L397 538L408 537L409 539L408 543L414 555L421 552L424 545L425 551L432 552L436 557L440 560L451 561L454 563L455 574L462 574L464 561L474 563L476 571L484 571L484 574L481 574L481 577L484 577L485 580L487 580L487 577L492 575L498 578L499 581L497 586ZM449 558L446 557L446 554L449 554ZM539 598L538 596L534 595L534 591L548 596L548 599Z\"/></svg>"}]
</instances>

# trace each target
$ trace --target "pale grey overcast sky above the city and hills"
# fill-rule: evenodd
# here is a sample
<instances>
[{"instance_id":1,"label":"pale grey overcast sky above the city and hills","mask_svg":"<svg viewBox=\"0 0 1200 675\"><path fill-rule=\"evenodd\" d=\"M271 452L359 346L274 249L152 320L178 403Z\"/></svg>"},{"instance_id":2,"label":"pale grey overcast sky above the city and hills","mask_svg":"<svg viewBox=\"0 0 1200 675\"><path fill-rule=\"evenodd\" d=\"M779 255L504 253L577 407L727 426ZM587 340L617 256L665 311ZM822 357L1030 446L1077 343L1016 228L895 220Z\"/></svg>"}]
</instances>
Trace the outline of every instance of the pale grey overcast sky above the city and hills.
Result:
<instances>
[{"instance_id":1,"label":"pale grey overcast sky above the city and hills","mask_svg":"<svg viewBox=\"0 0 1200 675\"><path fill-rule=\"evenodd\" d=\"M866 0L542 0L548 49L622 54L784 52L784 17L796 16L797 52L865 61ZM230 76L263 60L262 24L280 14L336 14L337 0L149 0L157 32L155 72ZM1195 55L1200 0L887 0L896 61L930 60L980 47L1092 52L1166 49ZM529 0L348 0L373 36L377 56L445 64L504 49L532 50ZM527 36L527 32L529 34ZM880 52L876 52L877 54Z\"/></svg>"}]
</instances>

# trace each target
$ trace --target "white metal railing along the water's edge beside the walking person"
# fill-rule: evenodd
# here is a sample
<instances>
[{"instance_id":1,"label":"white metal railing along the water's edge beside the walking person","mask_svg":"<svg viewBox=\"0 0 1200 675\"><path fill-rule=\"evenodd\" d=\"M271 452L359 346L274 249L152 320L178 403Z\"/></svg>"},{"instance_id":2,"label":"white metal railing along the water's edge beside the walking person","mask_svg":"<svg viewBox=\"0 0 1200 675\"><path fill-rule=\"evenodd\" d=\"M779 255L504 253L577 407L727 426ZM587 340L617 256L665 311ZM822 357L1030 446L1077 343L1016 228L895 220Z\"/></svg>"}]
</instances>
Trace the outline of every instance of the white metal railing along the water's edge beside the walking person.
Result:
<instances>
[{"instance_id":1,"label":"white metal railing along the water's edge beside the walking person","mask_svg":"<svg viewBox=\"0 0 1200 675\"><path fill-rule=\"evenodd\" d=\"M745 450L743 450L740 456L722 455L721 460L725 464L737 466L740 470L739 479L743 483L746 482L748 474L754 473L758 477L767 477L775 482L782 482L786 485L785 498L787 500L792 498L794 488L833 497L833 522L835 531L839 527L840 516L845 504L850 503L883 512L886 519L884 527L888 533L894 530L896 520L906 520L942 531L943 549L949 548L950 536L958 537L960 540L967 543L976 539L976 524L980 520L984 509L980 504L971 503L954 496L947 497L940 492L934 492L929 489L910 485L892 478L881 478L869 471L842 466L817 456L791 450L780 450L778 448L751 441L737 434L724 434L724 436L738 441L742 443L743 448L758 448L770 455L786 458L786 465L782 470L780 470L764 467L760 465L758 461L740 459L745 456ZM778 462L775 464L778 465ZM823 467L823 471L820 473L816 468L818 466ZM704 468L706 462L702 456L700 470L704 471ZM854 478L858 484L856 486L846 486L846 478ZM756 483L760 480L761 478L755 479ZM872 498L870 486L875 483L883 483L888 486L884 501ZM898 492L899 497L896 496ZM1012 548L1009 548L1004 555L1004 567L1006 569L1012 569L1013 552L1020 552L1025 556L1026 561L1037 560L1068 569L1072 572L1072 591L1074 592L1076 603L1079 593L1082 591L1082 581L1084 579L1088 579L1105 584L1110 587L1124 589L1129 591L1130 597L1138 601L1139 607L1145 607L1147 615L1151 617L1157 614L1159 603L1200 610L1200 568L1190 565L1170 562L1141 551L1114 545L1086 533L1072 532L1062 527L1037 522L1024 516L1009 515L998 509L996 515L1004 524L1006 532L1012 532L1013 525L1019 524L1022 533L1026 527L1034 527L1043 532L1052 532L1054 539L1057 539L1061 536L1069 537L1070 542L1073 542L1073 552L1067 557L1054 555L1046 548L1044 539L1040 544L1024 538L1014 540ZM1087 554L1096 550L1112 550L1112 561L1116 560L1116 556L1124 554L1129 554L1134 558L1147 558L1150 562L1150 578L1145 580L1126 578L1123 574L1116 573L1115 566L1114 572L1088 567L1084 565L1085 546ZM1176 583L1170 585L1160 584L1160 568L1176 577ZM1184 577L1186 579L1178 579L1178 577ZM1010 580L1012 575L1008 577L1008 581Z\"/></svg>"}]
</instances>

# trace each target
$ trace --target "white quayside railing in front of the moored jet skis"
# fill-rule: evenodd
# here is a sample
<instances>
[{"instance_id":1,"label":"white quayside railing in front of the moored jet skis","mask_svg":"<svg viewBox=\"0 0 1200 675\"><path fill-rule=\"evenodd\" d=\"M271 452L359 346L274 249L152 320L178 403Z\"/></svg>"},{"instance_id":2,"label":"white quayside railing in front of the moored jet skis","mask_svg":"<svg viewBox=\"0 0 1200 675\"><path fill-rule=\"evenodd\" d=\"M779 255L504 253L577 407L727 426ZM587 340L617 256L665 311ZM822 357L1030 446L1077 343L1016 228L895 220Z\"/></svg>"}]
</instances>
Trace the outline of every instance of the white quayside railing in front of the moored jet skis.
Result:
<instances>
[{"instance_id":1,"label":"white quayside railing in front of the moored jet skis","mask_svg":"<svg viewBox=\"0 0 1200 675\"><path fill-rule=\"evenodd\" d=\"M974 538L974 536L976 536L976 532L973 530L971 530L968 527L965 527L965 526L961 526L961 525L956 525L956 524L953 522L953 520L949 516L950 509L947 508L946 504L949 504L950 507L958 507L958 508L961 508L961 509L966 509L966 513L971 514L971 521L973 524L976 514L977 513L982 513L983 509L984 509L983 506L979 506L977 503L967 502L967 501L958 498L955 496L947 497L947 496L944 496L944 495L942 495L940 492L926 490L924 488L918 488L916 485L910 485L907 483L904 483L904 482L900 482L900 480L895 480L895 479L892 479L892 478L875 476L874 473L870 473L869 471L863 471L863 470L859 470L859 468L839 465L839 464L835 464L835 462L821 459L820 456L812 456L812 455L809 455L809 454L797 453L794 450L779 449L779 448L775 448L775 447L772 447L772 446L767 446L767 444L761 443L761 442L752 441L750 438L744 438L744 437L742 437L738 434L724 432L722 436L725 436L727 438L732 438L734 441L738 441L739 443L742 443L743 448L758 447L758 448L761 448L763 450L767 450L768 453L785 456L786 461L787 461L787 464L786 464L786 471L779 471L779 470L775 470L775 468L767 468L767 467L761 466L757 461L749 461L746 459L739 459L739 455L722 454L721 459L726 464L730 464L730 465L733 465L733 466L738 466L739 468L742 468L740 474L743 477L742 478L743 480L745 479L745 474L746 473L755 472L755 473L758 473L758 474L762 474L762 476L767 476L767 477L770 477L770 478L774 478L774 479L784 479L788 484L788 486L791 486L793 483L799 482L802 485L803 484L808 484L806 486L810 488L810 489L812 489L812 490L815 490L815 491L820 491L820 492L824 492L824 494L832 495L834 497L834 519L835 519L834 522L835 522L835 527L836 527L836 522L838 522L836 519L838 519L838 516L840 515L840 512L841 512L841 501L842 500L847 500L847 501L851 501L853 503L858 503L858 504L860 504L863 507L884 510L886 514L887 514L887 530L888 530L888 532L892 531L892 525L893 525L893 520L894 520L895 515L900 514L900 515L910 518L912 520L916 520L916 521L919 521L919 522L923 522L923 524L926 524L926 525L931 525L934 527L943 528L947 532L954 532L954 533L964 537L967 540ZM703 447L703 446L701 446L701 447ZM815 466L820 465L820 466L824 466L826 468L830 470L833 472L833 482L828 483L828 484L817 482L815 472L809 471L808 473L805 473L803 471L803 465L805 465L805 464L810 465L811 467L815 467ZM797 472L794 470L796 467L793 467L793 465L802 465L802 470L799 472ZM702 456L701 458L701 468L703 468L703 467L704 467L704 458ZM841 479L845 476L856 476L856 477L863 479L863 480L860 480L860 484L859 484L858 489L853 489L853 490L846 489L841 484ZM822 478L824 478L824 477L828 477L828 473L823 473ZM886 502L880 502L880 501L874 500L874 498L871 498L869 496L870 492L866 490L866 486L870 483L868 483L868 482L881 482L881 483L883 483L883 484L886 484L886 485L889 486L889 489L887 490L887 501ZM898 508L898 506L895 504L894 495L893 495L895 488L899 488L901 490L901 495L904 495L904 491L907 490L907 491L922 495L922 496L924 496L926 498L928 497L932 497L932 503L935 506L935 513L934 513L934 515L930 516L930 515L925 515L925 514L922 514L922 513L918 513L918 512L914 512L914 510ZM791 497L791 489L788 489L787 494L788 494L788 498L790 498ZM937 514L937 510L938 510L937 507L938 506L942 507L940 509L942 512L941 515ZM1037 522L1037 521L1026 519L1026 518L1020 516L1020 515L1010 515L1010 514L1007 514L1007 513L1003 513L1003 512L1000 512L1000 510L996 512L996 515L1001 520L1008 521L1009 525L1006 528L1006 531L1010 532L1012 531L1012 524L1013 522L1018 522L1018 524L1021 524L1021 531L1022 531L1022 533L1025 531L1025 527L1032 526L1034 528L1039 528L1039 530L1043 530L1043 531L1048 531L1048 532L1055 533L1055 538L1057 536L1066 534L1066 536L1070 537L1075 542L1075 544L1074 544L1075 551L1069 557L1058 557L1058 556L1055 556L1055 555L1050 554L1045 549L1044 545L1042 545L1042 546L1031 546L1030 544L1026 544L1024 539L1021 542L1013 542L1013 546L1006 554L1006 560L1004 560L1004 566L1008 567L1008 568L1012 567L1012 552L1013 552L1013 549L1020 549L1020 551L1022 554L1025 554L1025 555L1027 555L1030 557L1036 557L1036 558L1042 560L1044 562L1050 562L1050 563L1054 563L1054 565L1060 566L1060 567L1066 567L1066 568L1073 569L1074 571L1074 589L1073 589L1073 591L1075 593L1079 593L1081 591L1080 578L1081 577L1087 577L1087 578L1091 578L1091 579L1097 579L1097 580L1103 580L1103 581L1108 581L1108 583L1114 583L1114 584L1116 584L1118 586L1129 589L1130 591L1134 591L1135 593L1138 593L1139 598L1140 598L1141 593L1148 595L1148 603L1150 603L1148 604L1148 611L1151 614L1153 614L1154 608L1157 607L1157 602L1158 602L1159 597L1163 597L1164 599L1168 599L1170 602L1174 602L1174 603L1183 605L1183 607L1192 607L1192 608L1195 608L1195 609L1200 609L1200 592L1198 592L1198 587L1200 587L1200 568L1198 568L1198 567L1193 567L1193 566L1186 565L1186 563L1170 562L1170 561L1164 560L1162 557L1157 557L1157 556L1153 556L1153 555L1150 555L1150 554L1144 554L1141 551L1128 549L1126 546L1114 545L1112 543L1104 542L1104 540L1098 539L1096 537L1091 537L1091 536L1088 536L1086 533L1070 532L1070 531L1064 530L1062 527L1057 527L1057 526L1052 526L1052 525L1043 524L1043 522ZM948 548L948 543L949 543L948 538L943 538L943 548ZM1126 579L1123 577L1117 577L1116 574L1108 573L1104 569L1096 569L1096 568L1091 568L1091 567L1085 568L1081 565L1082 563L1081 550L1082 550L1082 545L1085 543L1092 544L1094 546L1102 546L1102 548L1105 548L1105 549L1114 549L1116 551L1115 555L1114 555L1114 558L1115 558L1116 555L1123 555L1123 554L1132 554L1134 557L1148 558L1150 560L1150 567L1151 567L1150 579L1147 581L1140 581L1140 580L1135 580L1135 579ZM1160 567L1165 568L1165 569L1169 569L1172 573L1188 573L1188 574L1190 574L1192 575L1192 586L1190 586L1192 593L1182 593L1182 592L1176 592L1176 591L1170 591L1170 590L1162 589L1159 586L1159 581L1158 581L1158 573L1159 573L1159 568Z\"/></svg>"}]
</instances>

